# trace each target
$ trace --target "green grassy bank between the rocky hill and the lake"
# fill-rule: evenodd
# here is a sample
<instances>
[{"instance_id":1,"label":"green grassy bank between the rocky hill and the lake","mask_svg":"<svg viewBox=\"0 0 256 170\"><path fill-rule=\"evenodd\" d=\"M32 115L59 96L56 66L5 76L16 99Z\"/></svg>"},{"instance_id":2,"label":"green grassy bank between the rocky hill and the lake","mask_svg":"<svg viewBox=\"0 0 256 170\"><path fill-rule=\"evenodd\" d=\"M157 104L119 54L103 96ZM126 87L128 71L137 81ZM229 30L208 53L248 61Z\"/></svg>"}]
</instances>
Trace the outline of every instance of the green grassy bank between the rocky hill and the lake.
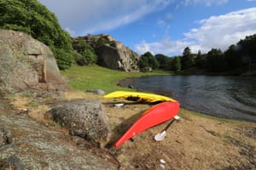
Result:
<instances>
[{"instance_id":1,"label":"green grassy bank between the rocky hill and the lake","mask_svg":"<svg viewBox=\"0 0 256 170\"><path fill-rule=\"evenodd\" d=\"M115 90L127 90L117 86L117 82L127 77L142 77L150 75L170 75L172 72L153 71L153 72L125 72L114 71L98 65L73 66L67 71L61 71L67 78L68 84L78 90L86 91L91 89L102 89L106 93ZM131 89L130 89L131 90Z\"/></svg>"}]
</instances>

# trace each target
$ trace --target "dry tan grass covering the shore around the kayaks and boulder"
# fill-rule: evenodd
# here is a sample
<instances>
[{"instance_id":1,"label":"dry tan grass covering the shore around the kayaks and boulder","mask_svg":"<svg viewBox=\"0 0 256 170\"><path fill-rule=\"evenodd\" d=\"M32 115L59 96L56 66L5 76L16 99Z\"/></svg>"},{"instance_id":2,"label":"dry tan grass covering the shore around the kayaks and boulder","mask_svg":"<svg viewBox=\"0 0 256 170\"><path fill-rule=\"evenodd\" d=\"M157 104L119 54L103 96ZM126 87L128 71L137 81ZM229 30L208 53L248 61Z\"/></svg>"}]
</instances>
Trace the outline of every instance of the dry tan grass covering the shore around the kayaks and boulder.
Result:
<instances>
[{"instance_id":1,"label":"dry tan grass covering the shore around the kayaks and boulder","mask_svg":"<svg viewBox=\"0 0 256 170\"><path fill-rule=\"evenodd\" d=\"M120 163L120 169L256 169L255 123L230 122L200 116L181 109L181 120L168 129L166 139L154 141L166 123L137 134L134 141L126 141L119 148L112 145L125 133L150 105L127 103L124 100L103 99L102 95L69 92L65 99L96 99L102 101L113 132L109 151ZM125 103L124 107L113 107ZM47 105L37 105L28 97L15 96L12 105L38 122L44 122ZM166 161L160 163L160 159Z\"/></svg>"}]
</instances>

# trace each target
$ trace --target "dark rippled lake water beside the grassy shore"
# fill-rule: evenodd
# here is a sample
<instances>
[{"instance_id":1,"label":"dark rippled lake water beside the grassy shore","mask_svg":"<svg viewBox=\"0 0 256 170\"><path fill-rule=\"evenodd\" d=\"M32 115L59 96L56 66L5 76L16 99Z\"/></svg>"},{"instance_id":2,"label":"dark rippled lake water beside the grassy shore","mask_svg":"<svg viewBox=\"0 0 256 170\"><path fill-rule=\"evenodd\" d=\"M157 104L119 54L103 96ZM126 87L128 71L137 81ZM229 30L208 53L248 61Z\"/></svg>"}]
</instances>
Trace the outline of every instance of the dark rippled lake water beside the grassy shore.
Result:
<instances>
[{"instance_id":1,"label":"dark rippled lake water beside the grassy shore","mask_svg":"<svg viewBox=\"0 0 256 170\"><path fill-rule=\"evenodd\" d=\"M172 97L189 110L256 122L256 77L149 76L120 84Z\"/></svg>"}]
</instances>

